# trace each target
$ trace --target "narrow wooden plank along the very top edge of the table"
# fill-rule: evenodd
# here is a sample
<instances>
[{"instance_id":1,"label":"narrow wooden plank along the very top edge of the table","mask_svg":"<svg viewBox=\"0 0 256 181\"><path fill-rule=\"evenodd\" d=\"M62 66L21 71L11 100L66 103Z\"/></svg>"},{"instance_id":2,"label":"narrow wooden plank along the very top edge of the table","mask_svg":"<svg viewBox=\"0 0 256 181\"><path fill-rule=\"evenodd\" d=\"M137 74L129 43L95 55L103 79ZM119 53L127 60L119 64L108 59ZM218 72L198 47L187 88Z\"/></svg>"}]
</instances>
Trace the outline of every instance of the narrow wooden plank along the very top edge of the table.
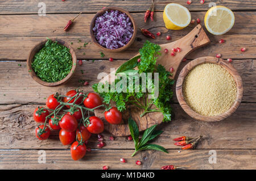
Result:
<instances>
[{"instance_id":1,"label":"narrow wooden plank along the very top edge of the table","mask_svg":"<svg viewBox=\"0 0 256 181\"><path fill-rule=\"evenodd\" d=\"M21 0L21 1L1 1L0 2L0 12L1 14L25 14L25 13L38 13L38 10L41 6L38 7L39 0ZM171 1L179 3L187 7L191 11L201 11L208 10L209 3L215 2L216 5L227 6L232 10L255 10L256 3L253 0L245 1L205 1L204 5L200 4L200 1L192 1L191 5L187 5L187 0L182 1ZM45 0L46 3L46 13L58 13L58 12L97 12L106 6L116 6L126 9L128 11L141 11L144 12L150 6L151 1L148 0L131 0L131 1L121 1L121 0L69 0L69 1L51 1ZM170 3L168 0L156 0L155 1L155 10L163 11L164 7Z\"/></svg>"}]
</instances>

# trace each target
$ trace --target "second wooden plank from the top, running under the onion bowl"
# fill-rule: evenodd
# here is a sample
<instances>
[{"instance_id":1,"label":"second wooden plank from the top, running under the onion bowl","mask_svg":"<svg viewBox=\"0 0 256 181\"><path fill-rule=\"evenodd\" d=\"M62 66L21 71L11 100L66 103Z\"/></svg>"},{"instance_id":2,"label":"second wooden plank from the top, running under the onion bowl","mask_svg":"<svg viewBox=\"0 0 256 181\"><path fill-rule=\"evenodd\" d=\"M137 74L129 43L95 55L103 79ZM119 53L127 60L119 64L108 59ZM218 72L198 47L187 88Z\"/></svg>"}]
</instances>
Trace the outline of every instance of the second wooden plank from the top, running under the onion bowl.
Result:
<instances>
[{"instance_id":1,"label":"second wooden plank from the top, running under the onion bowl","mask_svg":"<svg viewBox=\"0 0 256 181\"><path fill-rule=\"evenodd\" d=\"M253 17L256 17L256 12L234 13L236 15L236 23L230 32L222 36L213 36L208 33L212 41L211 44L189 54L187 58L193 59L201 56L215 56L217 53L221 53L223 58L255 58L256 18ZM192 12L192 18L200 18L201 24L204 24L204 14L205 12ZM46 39L46 37L59 37L59 39L73 42L72 47L75 48L77 58L79 59L100 59L101 49L96 47L94 43L88 44L86 48L82 47L81 49L77 49L83 45L84 41L90 41L89 24L93 15L82 14L81 17L76 20L75 26L73 26L70 31L64 32L63 27L65 23L73 16L73 14L0 16L0 21L5 24L0 30L0 60L26 60L30 49L38 42ZM170 41L166 40L166 35L171 35L171 41L175 41L187 35L187 33L196 26L195 23L180 31L167 31L164 27L162 12L156 12L156 22L149 22L146 25L143 23L142 13L134 13L133 16L138 27L148 28L153 33L160 31L162 35L152 40L144 37L141 32L138 32L137 37L139 39L135 40L130 48L119 53L104 52L106 55L104 58L113 57L128 60L138 53L144 41L150 40L156 44L168 43ZM225 39L226 43L219 44L218 40L221 38ZM82 40L82 42L78 43L77 39ZM246 47L246 52L242 53L240 50L241 47ZM170 49L171 48L172 47L170 47Z\"/></svg>"}]
</instances>

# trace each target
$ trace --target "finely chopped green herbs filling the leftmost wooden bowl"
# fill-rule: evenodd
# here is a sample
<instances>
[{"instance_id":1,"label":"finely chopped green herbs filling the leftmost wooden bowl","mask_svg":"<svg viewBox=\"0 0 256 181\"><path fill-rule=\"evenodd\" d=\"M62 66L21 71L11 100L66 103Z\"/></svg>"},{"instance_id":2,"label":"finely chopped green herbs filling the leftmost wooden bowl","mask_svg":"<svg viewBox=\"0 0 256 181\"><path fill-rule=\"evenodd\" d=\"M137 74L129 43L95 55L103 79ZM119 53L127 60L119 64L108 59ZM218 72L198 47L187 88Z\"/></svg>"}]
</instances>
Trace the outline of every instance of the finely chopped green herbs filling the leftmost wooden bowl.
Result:
<instances>
[{"instance_id":1,"label":"finely chopped green herbs filling the leftmost wooden bowl","mask_svg":"<svg viewBox=\"0 0 256 181\"><path fill-rule=\"evenodd\" d=\"M35 54L31 65L42 81L57 82L71 71L72 56L67 47L48 39L46 45Z\"/></svg>"}]
</instances>

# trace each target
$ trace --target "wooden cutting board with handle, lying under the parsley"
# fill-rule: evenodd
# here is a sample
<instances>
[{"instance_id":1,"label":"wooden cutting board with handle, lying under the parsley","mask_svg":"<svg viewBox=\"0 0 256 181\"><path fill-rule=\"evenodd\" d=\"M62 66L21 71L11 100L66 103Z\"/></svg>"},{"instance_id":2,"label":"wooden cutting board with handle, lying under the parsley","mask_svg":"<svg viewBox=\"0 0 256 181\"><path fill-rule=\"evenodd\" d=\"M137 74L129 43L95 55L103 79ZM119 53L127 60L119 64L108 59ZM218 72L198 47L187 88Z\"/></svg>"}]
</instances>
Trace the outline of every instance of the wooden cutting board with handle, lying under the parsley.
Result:
<instances>
[{"instance_id":1,"label":"wooden cutting board with handle, lying under the parsley","mask_svg":"<svg viewBox=\"0 0 256 181\"><path fill-rule=\"evenodd\" d=\"M157 59L157 64L162 64L164 68L166 68L166 70L174 68L174 73L171 77L174 79L177 69L179 68L179 65L183 58L187 56L187 54L191 53L193 50L203 47L204 45L207 45L209 43L210 40L205 31L203 30L203 27L198 24L191 32L189 32L181 39L173 41L171 43L160 45L161 56L159 56L159 58ZM175 56L171 56L171 49L177 47L181 49L181 52L176 53ZM164 53L164 49L166 48L168 49L168 53ZM138 55L139 54L137 54L136 56ZM101 82L110 82L109 75L103 78ZM114 103L112 104L112 106L114 106ZM152 108L154 107L152 106ZM140 117L139 115L143 113L143 110L134 106L127 106L127 110L123 112L123 124L118 125L109 124L108 121L105 120L103 109L95 110L94 113L97 117L100 117L104 121L105 130L112 133L114 136L130 135L129 127L127 124L127 118L129 117L129 115L131 115L131 117L133 117L133 119L136 121L139 127L139 131L143 131L154 124L160 124L163 120L163 115L160 112L151 112L147 113L143 117Z\"/></svg>"}]
</instances>

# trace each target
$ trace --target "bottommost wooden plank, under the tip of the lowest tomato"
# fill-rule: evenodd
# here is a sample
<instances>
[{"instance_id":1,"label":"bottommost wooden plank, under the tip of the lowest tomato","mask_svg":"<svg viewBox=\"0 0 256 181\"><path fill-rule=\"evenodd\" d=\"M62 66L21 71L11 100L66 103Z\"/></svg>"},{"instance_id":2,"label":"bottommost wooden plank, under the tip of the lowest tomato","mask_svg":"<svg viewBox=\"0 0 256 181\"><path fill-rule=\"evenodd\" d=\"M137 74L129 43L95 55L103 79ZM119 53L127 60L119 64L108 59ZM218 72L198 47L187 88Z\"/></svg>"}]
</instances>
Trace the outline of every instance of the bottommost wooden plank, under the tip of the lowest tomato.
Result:
<instances>
[{"instance_id":1,"label":"bottommost wooden plank, under the tip of the lowest tomato","mask_svg":"<svg viewBox=\"0 0 256 181\"><path fill-rule=\"evenodd\" d=\"M0 150L0 169L156 169L165 165L175 165L185 169L256 169L256 151L251 150L216 150L216 163L210 163L210 150L168 150L142 151L131 157L133 150L92 150L80 161L73 161L69 150L46 150L46 163L39 150ZM127 163L121 163L126 158ZM135 164L137 160L142 165ZM99 175L100 178L100 175Z\"/></svg>"}]
</instances>

